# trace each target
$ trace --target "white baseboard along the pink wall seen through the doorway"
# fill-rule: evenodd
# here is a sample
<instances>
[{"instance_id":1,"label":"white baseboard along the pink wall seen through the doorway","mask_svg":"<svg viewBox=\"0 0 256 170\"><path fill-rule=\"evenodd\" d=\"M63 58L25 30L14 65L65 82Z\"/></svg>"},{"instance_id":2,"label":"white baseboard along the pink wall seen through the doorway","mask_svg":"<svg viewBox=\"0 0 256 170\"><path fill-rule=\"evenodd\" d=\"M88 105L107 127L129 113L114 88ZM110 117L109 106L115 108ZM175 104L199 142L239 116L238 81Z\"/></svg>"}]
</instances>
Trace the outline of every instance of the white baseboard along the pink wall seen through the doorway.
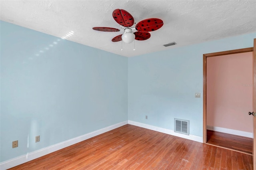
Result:
<instances>
[{"instance_id":1,"label":"white baseboard along the pink wall seen through the doorway","mask_svg":"<svg viewBox=\"0 0 256 170\"><path fill-rule=\"evenodd\" d=\"M234 129L222 128L222 127L213 127L213 126L208 126L208 125L207 125L207 130L214 130L217 132L223 132L223 133L235 134L238 136L253 138L252 132L244 132L244 131L240 131L240 130L234 130Z\"/></svg>"}]
</instances>

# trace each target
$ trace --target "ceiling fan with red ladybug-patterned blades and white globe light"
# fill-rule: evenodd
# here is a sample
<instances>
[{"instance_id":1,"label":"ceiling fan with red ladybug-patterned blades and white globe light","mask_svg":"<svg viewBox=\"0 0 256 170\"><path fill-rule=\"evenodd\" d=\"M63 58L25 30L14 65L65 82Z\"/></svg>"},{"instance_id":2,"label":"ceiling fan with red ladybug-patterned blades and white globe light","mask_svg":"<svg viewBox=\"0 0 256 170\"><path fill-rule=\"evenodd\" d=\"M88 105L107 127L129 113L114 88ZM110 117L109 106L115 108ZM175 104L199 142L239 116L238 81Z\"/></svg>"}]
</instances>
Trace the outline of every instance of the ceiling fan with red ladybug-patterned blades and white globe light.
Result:
<instances>
[{"instance_id":1,"label":"ceiling fan with red ladybug-patterned blades and white globe light","mask_svg":"<svg viewBox=\"0 0 256 170\"><path fill-rule=\"evenodd\" d=\"M124 30L123 34L112 38L112 42L119 42L123 40L125 43L131 43L134 41L134 39L139 41L148 40L148 38L151 36L149 32L158 30L164 25L164 22L158 18L148 18L138 22L135 28L132 28L134 25L134 18L129 12L123 9L114 10L112 16L114 20L120 24L121 30ZM120 31L117 28L109 27L94 27L92 29L104 32ZM133 32L134 30L137 30L137 32Z\"/></svg>"}]
</instances>

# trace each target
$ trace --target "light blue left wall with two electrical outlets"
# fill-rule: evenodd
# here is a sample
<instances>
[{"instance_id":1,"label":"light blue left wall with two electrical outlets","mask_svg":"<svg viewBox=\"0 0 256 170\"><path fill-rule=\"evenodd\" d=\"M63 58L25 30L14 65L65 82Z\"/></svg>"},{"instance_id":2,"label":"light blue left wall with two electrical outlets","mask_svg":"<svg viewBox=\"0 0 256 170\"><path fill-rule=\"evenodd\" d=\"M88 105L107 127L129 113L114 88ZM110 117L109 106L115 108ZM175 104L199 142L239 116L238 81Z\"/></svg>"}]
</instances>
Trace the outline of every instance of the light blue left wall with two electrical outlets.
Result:
<instances>
[{"instance_id":1,"label":"light blue left wall with two electrical outlets","mask_svg":"<svg viewBox=\"0 0 256 170\"><path fill-rule=\"evenodd\" d=\"M128 58L0 24L0 162L128 120Z\"/></svg>"}]
</instances>

